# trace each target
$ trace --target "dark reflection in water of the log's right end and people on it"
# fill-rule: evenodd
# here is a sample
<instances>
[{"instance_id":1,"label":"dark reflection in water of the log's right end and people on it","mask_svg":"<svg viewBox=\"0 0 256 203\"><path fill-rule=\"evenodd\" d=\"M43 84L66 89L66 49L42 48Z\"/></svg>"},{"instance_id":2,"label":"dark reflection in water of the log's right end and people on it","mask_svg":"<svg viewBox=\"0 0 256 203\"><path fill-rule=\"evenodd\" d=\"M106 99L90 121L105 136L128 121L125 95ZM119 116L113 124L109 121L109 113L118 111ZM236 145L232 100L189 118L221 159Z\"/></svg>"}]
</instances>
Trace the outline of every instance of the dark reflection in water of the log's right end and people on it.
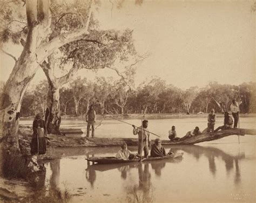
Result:
<instances>
[{"instance_id":1,"label":"dark reflection in water of the log's right end and people on it","mask_svg":"<svg viewBox=\"0 0 256 203\"><path fill-rule=\"evenodd\" d=\"M230 155L223 150L220 150L218 148L213 148L213 147L205 147L205 146L197 146L197 145L191 145L191 146L181 146L179 148L173 148L172 151L177 151L177 150L183 150L187 153L190 153L197 159L201 155L205 155L208 158L209 162L209 170L215 176L215 173L217 171L217 167L215 164L215 158L220 157L226 167L227 174L230 174L231 170L234 167L235 163L235 177L234 177L234 183L240 184L241 182L241 177L240 177L240 169L239 169L239 160L240 159L245 159L245 154L244 153L239 153L237 156Z\"/></svg>"}]
</instances>

